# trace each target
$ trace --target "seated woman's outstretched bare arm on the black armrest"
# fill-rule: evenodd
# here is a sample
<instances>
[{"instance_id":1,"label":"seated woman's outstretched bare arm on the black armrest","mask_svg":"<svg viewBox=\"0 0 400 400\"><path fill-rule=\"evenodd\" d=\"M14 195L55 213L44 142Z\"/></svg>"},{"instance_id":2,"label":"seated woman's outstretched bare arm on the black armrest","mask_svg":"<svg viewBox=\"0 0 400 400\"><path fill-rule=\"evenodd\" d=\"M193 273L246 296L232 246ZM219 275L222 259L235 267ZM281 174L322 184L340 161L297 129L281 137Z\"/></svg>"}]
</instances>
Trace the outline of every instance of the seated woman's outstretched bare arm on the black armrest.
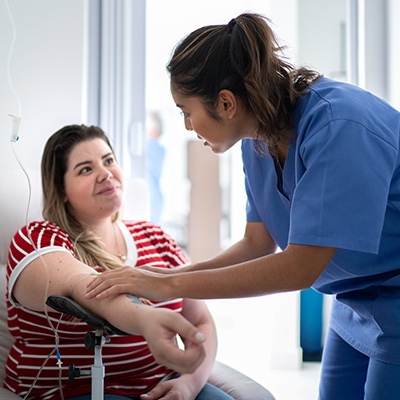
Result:
<instances>
[{"instance_id":1,"label":"seated woman's outstretched bare arm on the black armrest","mask_svg":"<svg viewBox=\"0 0 400 400\"><path fill-rule=\"evenodd\" d=\"M44 263L43 263L43 261ZM24 307L44 311L47 296L73 298L118 329L146 338L155 359L177 372L193 372L204 359L204 335L184 317L170 310L148 307L125 294L104 300L87 299L83 293L94 269L66 252L54 252L32 261L18 277L14 298ZM173 338L179 334L194 345L181 351Z\"/></svg>"}]
</instances>

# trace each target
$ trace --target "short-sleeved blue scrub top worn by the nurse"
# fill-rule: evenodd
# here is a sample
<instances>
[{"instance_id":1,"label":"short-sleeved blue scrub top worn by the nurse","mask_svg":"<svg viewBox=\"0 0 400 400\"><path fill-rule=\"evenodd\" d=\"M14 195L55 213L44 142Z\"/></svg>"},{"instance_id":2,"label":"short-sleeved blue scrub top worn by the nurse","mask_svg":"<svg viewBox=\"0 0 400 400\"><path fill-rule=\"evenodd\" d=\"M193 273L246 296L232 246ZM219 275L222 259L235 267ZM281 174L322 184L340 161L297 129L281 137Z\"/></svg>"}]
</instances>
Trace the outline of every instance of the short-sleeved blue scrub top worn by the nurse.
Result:
<instances>
[{"instance_id":1,"label":"short-sleeved blue scrub top worn by the nurse","mask_svg":"<svg viewBox=\"0 0 400 400\"><path fill-rule=\"evenodd\" d=\"M335 295L331 327L400 365L400 113L322 78L299 99L293 127L283 171L262 143L242 141L247 220L282 249L337 247L313 285Z\"/></svg>"}]
</instances>

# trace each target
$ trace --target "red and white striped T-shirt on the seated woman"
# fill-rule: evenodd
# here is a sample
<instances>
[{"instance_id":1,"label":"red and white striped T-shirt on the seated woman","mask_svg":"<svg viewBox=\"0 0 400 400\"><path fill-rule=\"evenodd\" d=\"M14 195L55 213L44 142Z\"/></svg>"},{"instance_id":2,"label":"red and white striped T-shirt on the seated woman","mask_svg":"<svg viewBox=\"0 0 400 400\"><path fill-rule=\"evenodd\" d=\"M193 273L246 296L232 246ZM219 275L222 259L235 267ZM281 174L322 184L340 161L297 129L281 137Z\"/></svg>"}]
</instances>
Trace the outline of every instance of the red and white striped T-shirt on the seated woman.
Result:
<instances>
[{"instance_id":1,"label":"red and white striped T-shirt on the seated woman","mask_svg":"<svg viewBox=\"0 0 400 400\"><path fill-rule=\"evenodd\" d=\"M134 259L135 265L175 268L187 262L179 246L159 227L148 222L126 221L120 223L120 227L123 233L125 230L128 261ZM88 394L91 392L91 378L83 376L69 382L68 366L73 363L78 368L90 369L93 365L94 351L87 350L84 345L85 334L92 328L84 322L71 322L71 317L67 315L49 313L59 336L58 349L63 362L60 369L55 334L46 315L23 307L10 295L18 275L39 254L67 251L74 255L71 239L58 226L50 222L33 222L29 230L37 250L24 227L14 236L8 256L8 327L15 343L8 356L4 386L25 396L34 385L28 399L55 400L60 398L60 375L65 398ZM155 303L153 306L181 312L182 299ZM106 393L145 393L172 372L156 363L142 336L111 336L110 339L102 350Z\"/></svg>"}]
</instances>

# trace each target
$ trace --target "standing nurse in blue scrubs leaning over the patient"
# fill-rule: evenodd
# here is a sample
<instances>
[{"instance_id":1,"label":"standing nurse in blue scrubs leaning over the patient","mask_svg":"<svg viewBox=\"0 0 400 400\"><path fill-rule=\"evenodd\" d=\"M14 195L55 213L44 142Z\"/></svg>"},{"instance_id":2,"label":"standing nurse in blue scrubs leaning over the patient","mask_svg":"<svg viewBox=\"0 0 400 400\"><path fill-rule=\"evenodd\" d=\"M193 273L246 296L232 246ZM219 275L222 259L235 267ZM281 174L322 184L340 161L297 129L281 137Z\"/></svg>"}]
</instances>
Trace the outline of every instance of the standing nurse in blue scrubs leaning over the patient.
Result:
<instances>
[{"instance_id":1,"label":"standing nurse in blue scrubs leaning over the patient","mask_svg":"<svg viewBox=\"0 0 400 400\"><path fill-rule=\"evenodd\" d=\"M292 67L256 14L194 31L168 71L187 129L215 153L242 141L244 237L167 275L106 272L86 296L236 298L313 287L334 297L320 399L399 398L400 113Z\"/></svg>"}]
</instances>

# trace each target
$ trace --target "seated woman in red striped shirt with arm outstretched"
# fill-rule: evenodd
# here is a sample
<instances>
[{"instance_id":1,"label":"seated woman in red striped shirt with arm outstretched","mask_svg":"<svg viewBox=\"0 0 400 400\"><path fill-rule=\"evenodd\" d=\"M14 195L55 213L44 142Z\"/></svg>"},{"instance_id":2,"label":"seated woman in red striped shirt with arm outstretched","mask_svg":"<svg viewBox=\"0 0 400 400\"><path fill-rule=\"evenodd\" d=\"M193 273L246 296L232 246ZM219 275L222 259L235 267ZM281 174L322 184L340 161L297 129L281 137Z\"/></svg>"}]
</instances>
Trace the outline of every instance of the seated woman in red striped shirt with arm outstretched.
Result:
<instances>
[{"instance_id":1,"label":"seated woman in red striped shirt with arm outstretched","mask_svg":"<svg viewBox=\"0 0 400 400\"><path fill-rule=\"evenodd\" d=\"M93 351L84 346L90 328L48 309L47 297L58 294L132 335L112 336L103 347L105 399L230 399L206 383L216 334L204 303L149 304L125 294L104 301L84 297L93 275L103 271L187 262L159 227L118 218L123 173L104 132L72 125L53 134L42 157L42 188L45 221L20 229L9 251L8 324L16 342L5 387L29 399L90 399L90 377L68 381L68 364L86 369L93 364Z\"/></svg>"}]
</instances>

